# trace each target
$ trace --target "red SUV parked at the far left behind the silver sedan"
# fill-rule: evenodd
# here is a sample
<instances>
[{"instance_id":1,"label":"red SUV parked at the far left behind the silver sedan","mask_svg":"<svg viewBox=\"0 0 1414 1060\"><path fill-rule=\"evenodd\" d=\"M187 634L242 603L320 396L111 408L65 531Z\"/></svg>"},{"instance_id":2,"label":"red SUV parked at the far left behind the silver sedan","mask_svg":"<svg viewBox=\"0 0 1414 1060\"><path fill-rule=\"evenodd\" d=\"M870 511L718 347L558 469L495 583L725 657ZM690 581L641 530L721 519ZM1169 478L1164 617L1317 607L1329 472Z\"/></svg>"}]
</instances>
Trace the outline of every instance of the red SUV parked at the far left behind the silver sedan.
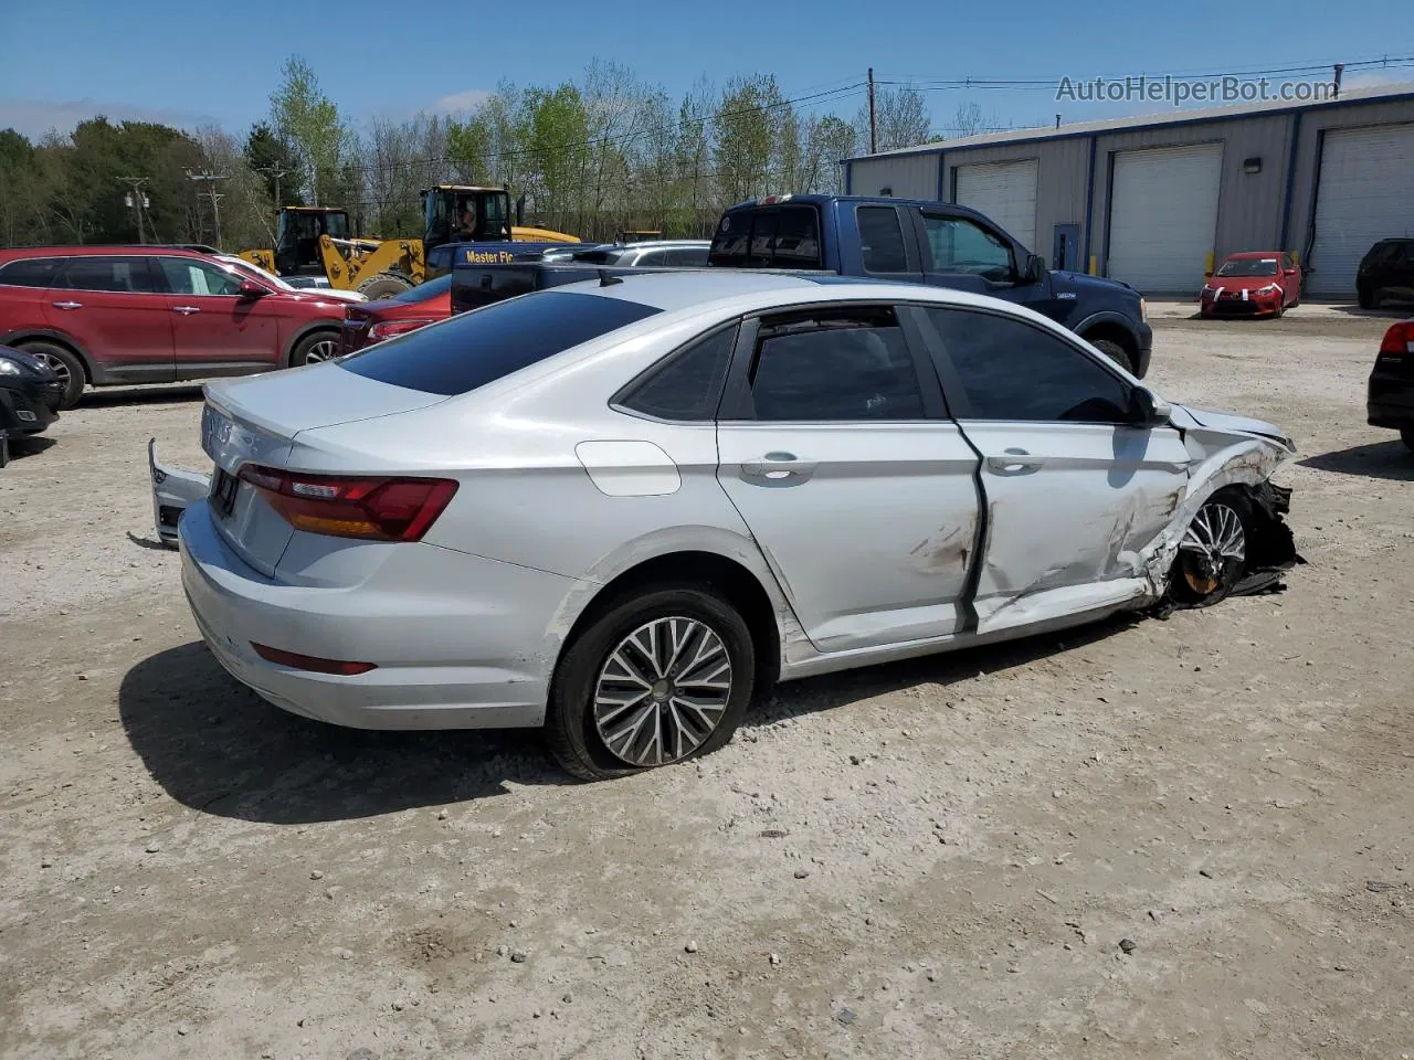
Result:
<instances>
[{"instance_id":1,"label":"red SUV parked at the far left behind the silver sedan","mask_svg":"<svg viewBox=\"0 0 1414 1060\"><path fill-rule=\"evenodd\" d=\"M0 345L65 382L171 383L304 365L338 353L344 302L281 291L199 250L163 246L0 250Z\"/></svg>"}]
</instances>

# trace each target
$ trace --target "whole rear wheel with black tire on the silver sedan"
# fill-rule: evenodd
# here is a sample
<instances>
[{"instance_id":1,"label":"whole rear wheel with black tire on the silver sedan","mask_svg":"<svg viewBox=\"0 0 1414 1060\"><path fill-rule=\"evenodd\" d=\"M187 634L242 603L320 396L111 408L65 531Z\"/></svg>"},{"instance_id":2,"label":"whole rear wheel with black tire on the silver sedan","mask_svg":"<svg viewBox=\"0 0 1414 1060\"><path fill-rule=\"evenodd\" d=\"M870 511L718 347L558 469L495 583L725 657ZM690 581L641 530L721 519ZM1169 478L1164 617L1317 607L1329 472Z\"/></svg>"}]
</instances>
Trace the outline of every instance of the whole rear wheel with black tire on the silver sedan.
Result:
<instances>
[{"instance_id":1,"label":"whole rear wheel with black tire on the silver sedan","mask_svg":"<svg viewBox=\"0 0 1414 1060\"><path fill-rule=\"evenodd\" d=\"M583 780L708 755L745 717L755 671L751 629L728 601L699 585L649 587L608 605L560 656L550 753Z\"/></svg>"}]
</instances>

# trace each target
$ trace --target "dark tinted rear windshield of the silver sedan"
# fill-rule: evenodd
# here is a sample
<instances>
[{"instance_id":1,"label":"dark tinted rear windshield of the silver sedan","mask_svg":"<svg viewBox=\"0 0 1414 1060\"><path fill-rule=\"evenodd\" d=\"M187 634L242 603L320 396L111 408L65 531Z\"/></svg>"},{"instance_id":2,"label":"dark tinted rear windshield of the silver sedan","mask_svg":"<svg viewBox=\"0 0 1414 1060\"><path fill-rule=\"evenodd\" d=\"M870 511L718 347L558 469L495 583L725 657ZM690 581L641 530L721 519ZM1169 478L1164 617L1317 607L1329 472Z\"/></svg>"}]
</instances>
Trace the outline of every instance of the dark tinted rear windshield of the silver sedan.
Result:
<instances>
[{"instance_id":1,"label":"dark tinted rear windshield of the silver sedan","mask_svg":"<svg viewBox=\"0 0 1414 1060\"><path fill-rule=\"evenodd\" d=\"M409 390L465 394L656 312L624 298L540 291L369 346L339 365Z\"/></svg>"}]
</instances>

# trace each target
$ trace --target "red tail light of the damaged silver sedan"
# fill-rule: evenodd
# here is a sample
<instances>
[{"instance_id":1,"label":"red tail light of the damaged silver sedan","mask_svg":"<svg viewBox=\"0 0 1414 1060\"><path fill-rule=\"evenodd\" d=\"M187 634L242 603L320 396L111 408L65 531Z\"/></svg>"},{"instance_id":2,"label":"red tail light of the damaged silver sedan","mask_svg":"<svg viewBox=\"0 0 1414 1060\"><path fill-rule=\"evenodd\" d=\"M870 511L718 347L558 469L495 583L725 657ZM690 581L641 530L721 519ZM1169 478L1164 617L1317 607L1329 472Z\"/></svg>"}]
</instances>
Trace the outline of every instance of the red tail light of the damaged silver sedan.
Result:
<instances>
[{"instance_id":1,"label":"red tail light of the damaged silver sedan","mask_svg":"<svg viewBox=\"0 0 1414 1060\"><path fill-rule=\"evenodd\" d=\"M451 479L305 475L257 464L239 478L296 530L369 541L420 541L457 493Z\"/></svg>"}]
</instances>

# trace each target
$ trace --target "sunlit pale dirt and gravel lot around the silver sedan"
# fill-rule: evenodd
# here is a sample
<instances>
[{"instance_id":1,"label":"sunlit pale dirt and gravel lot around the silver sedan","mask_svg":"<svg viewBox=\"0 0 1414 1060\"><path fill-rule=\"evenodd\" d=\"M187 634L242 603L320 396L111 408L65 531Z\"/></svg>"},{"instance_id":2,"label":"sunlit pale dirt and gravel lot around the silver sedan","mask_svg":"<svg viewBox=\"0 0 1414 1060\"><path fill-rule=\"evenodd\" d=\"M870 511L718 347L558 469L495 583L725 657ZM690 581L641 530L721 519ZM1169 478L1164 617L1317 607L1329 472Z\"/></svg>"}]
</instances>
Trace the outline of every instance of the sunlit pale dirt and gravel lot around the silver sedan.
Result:
<instances>
[{"instance_id":1,"label":"sunlit pale dirt and gravel lot around the silver sedan","mask_svg":"<svg viewBox=\"0 0 1414 1060\"><path fill-rule=\"evenodd\" d=\"M1414 1053L1386 321L1185 312L1151 382L1302 448L1287 594L786 685L598 786L235 685L151 543L198 391L90 396L0 471L0 1054Z\"/></svg>"}]
</instances>

